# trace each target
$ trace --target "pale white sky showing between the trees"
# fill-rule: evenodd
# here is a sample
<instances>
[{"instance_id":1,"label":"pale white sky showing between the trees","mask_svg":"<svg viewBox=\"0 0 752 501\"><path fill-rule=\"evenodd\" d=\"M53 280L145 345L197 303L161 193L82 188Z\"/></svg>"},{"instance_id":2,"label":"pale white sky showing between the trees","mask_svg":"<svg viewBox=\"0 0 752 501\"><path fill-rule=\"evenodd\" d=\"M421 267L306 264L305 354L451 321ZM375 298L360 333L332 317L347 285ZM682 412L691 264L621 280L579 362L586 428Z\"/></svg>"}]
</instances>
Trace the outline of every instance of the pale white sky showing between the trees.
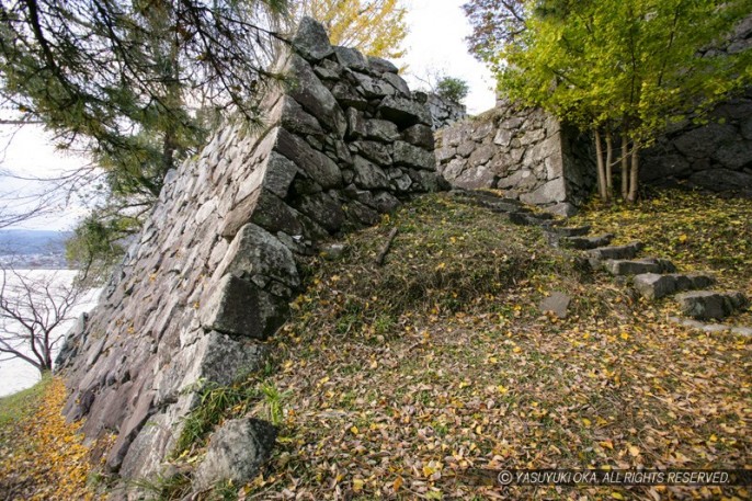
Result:
<instances>
[{"instance_id":1,"label":"pale white sky showing between the trees","mask_svg":"<svg viewBox=\"0 0 752 501\"><path fill-rule=\"evenodd\" d=\"M470 87L465 100L468 112L478 114L494 105L493 80L490 71L467 52L465 37L470 25L460 5L466 0L405 0L409 9L409 34L405 41L407 56L396 61L407 65L406 80L412 90L426 89L425 80L433 81L437 73L462 78ZM422 80L422 81L421 81ZM20 181L3 172L10 171L24 177L50 177L60 171L75 169L86 159L55 150L52 138L41 127L0 126L0 198L29 195L41 189L39 183ZM71 229L83 209L71 204L56 215L25 221L16 228Z\"/></svg>"}]
</instances>

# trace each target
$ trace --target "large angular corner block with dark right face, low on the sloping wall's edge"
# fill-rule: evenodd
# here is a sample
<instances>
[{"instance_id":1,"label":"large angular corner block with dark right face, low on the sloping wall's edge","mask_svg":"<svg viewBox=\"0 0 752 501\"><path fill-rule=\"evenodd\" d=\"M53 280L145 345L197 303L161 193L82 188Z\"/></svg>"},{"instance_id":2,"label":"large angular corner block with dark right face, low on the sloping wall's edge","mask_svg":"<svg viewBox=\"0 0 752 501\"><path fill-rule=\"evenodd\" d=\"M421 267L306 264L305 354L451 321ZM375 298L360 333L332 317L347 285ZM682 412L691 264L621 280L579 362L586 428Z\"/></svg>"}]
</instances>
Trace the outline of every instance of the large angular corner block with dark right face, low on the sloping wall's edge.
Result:
<instances>
[{"instance_id":1,"label":"large angular corner block with dark right face, low on the sloping wall's edge","mask_svg":"<svg viewBox=\"0 0 752 501\"><path fill-rule=\"evenodd\" d=\"M206 305L201 306L201 323L206 330L266 339L287 315L287 303L250 282L225 275Z\"/></svg>"}]
</instances>

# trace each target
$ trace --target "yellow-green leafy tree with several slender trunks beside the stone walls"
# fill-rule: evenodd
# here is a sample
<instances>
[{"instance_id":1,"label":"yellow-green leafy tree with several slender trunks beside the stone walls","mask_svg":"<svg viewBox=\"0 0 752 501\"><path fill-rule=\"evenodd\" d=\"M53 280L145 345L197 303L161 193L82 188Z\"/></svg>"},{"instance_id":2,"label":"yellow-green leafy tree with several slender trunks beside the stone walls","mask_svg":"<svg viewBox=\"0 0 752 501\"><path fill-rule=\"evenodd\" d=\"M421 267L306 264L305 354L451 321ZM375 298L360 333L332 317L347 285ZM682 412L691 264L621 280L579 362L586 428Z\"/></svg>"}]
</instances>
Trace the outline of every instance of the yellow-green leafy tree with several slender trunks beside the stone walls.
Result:
<instances>
[{"instance_id":1,"label":"yellow-green leafy tree with several slender trunks beside the stone walls","mask_svg":"<svg viewBox=\"0 0 752 501\"><path fill-rule=\"evenodd\" d=\"M622 196L634 202L640 149L752 81L749 50L723 50L749 14L749 0L531 1L524 29L480 56L513 100L593 132L604 200L618 135Z\"/></svg>"}]
</instances>

